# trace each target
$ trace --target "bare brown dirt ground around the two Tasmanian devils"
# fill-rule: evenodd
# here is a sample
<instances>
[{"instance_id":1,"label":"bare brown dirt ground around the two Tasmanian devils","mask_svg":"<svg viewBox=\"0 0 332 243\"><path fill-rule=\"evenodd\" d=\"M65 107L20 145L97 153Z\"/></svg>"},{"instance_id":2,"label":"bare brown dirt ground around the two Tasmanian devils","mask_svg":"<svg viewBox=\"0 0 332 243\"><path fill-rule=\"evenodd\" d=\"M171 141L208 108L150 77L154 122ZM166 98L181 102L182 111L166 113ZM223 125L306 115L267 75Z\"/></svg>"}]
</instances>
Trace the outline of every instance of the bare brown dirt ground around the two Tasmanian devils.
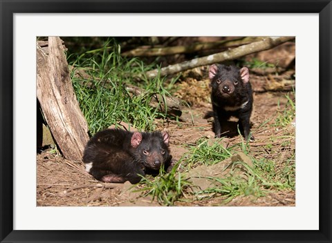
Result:
<instances>
[{"instance_id":1,"label":"bare brown dirt ground around the two Tasmanian devils","mask_svg":"<svg viewBox=\"0 0 332 243\"><path fill-rule=\"evenodd\" d=\"M271 52L260 52L255 57L261 60L279 58L284 61L283 66L287 66L295 57L290 54L295 53L295 45L279 48L280 51L274 50L272 55ZM283 57L287 57L287 60ZM252 57L248 56L248 59L250 58ZM202 137L214 137L212 119L203 118L208 110L212 110L206 73L206 68L201 68L194 72L194 75L187 74L183 77L183 82L178 84L176 95L191 104L190 110L183 110L181 121L156 121L157 130L167 130L170 135L170 149L174 159L180 159L187 152L187 145L196 144ZM250 143L250 155L272 159L277 170L278 167L282 167L284 158L295 151L295 139L292 136L280 136L287 131L295 134L295 120L286 128L272 126L277 110L285 107L285 95L288 93L277 91L278 88L273 84L294 79L295 71L278 72L278 75L276 73L276 70L268 68L263 71L251 70L250 73L250 83L254 90L254 110L250 120L252 134L255 136L255 142ZM229 133L225 133L228 137L225 139L226 147L241 143L236 123L230 122L229 125L225 129L230 130ZM271 142L271 137L282 138ZM142 197L140 193L133 192L133 189L135 188L129 182L98 182L86 173L82 162L64 159L57 150L48 148L37 153L37 206L161 206L156 200L152 201L151 197ZM295 191L270 190L264 197L239 196L228 203L224 200L221 196L208 200L188 198L187 202L175 202L174 206L295 206Z\"/></svg>"}]
</instances>

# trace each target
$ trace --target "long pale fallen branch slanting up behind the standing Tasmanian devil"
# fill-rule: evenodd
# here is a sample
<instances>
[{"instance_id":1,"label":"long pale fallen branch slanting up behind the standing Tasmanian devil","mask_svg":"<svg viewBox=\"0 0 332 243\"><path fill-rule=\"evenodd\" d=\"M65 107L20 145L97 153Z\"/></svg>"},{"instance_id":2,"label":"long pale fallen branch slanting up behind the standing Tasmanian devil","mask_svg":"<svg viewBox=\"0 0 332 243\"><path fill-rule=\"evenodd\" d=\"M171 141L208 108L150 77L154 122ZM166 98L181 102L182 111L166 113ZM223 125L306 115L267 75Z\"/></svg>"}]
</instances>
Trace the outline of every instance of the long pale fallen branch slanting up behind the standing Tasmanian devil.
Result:
<instances>
[{"instance_id":1,"label":"long pale fallen branch slanting up behind the standing Tasmanian devil","mask_svg":"<svg viewBox=\"0 0 332 243\"><path fill-rule=\"evenodd\" d=\"M160 76L174 75L177 72L196 68L198 66L210 65L221 61L236 59L248 54L259 52L261 50L268 50L286 41L291 41L292 39L295 39L295 37L266 37L261 41L255 41L247 45L239 46L232 50L226 50L225 52L219 52L207 57L199 57L190 61L184 61L181 64L169 65L160 69ZM158 75L158 69L146 72L146 75L149 78L156 77ZM138 77L138 79L140 78L141 77Z\"/></svg>"}]
</instances>

